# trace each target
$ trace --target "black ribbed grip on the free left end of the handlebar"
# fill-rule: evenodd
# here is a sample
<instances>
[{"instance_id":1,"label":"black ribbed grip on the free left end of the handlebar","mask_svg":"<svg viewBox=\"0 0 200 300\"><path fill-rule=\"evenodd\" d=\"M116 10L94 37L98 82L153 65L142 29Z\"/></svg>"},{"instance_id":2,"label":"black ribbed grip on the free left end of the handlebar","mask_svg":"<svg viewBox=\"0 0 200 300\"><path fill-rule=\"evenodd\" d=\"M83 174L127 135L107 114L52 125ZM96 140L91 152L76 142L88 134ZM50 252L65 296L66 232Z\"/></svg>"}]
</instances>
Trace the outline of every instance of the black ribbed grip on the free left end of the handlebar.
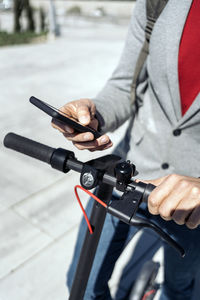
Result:
<instances>
[{"instance_id":1,"label":"black ribbed grip on the free left end of the handlebar","mask_svg":"<svg viewBox=\"0 0 200 300\"><path fill-rule=\"evenodd\" d=\"M4 138L4 146L25 155L50 164L54 148L27 139L15 133L8 133Z\"/></svg>"}]
</instances>

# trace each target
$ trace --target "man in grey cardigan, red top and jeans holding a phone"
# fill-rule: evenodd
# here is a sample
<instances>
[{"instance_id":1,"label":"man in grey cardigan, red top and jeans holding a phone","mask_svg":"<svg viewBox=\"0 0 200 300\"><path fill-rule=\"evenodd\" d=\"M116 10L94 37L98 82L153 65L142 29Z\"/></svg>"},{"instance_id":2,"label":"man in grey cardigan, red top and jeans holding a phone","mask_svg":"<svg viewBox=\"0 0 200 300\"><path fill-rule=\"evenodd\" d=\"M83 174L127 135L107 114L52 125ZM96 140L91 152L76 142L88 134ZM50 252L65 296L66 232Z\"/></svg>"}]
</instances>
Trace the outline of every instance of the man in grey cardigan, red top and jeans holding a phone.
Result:
<instances>
[{"instance_id":1,"label":"man in grey cardigan, red top and jeans holding a phone","mask_svg":"<svg viewBox=\"0 0 200 300\"><path fill-rule=\"evenodd\" d=\"M103 135L94 140L91 133L77 134L59 123L53 126L78 149L96 151L111 147L105 133L130 119L115 153L136 162L139 179L157 186L148 199L148 211L186 250L182 259L164 245L161 299L189 300L200 267L200 2L168 1L153 29L137 86L137 109L133 109L131 83L145 38L145 2L136 2L119 65L103 90L93 100L80 99L62 107L82 124L99 128ZM111 299L107 282L133 234L127 225L112 221L108 216L85 300ZM76 249L80 244L79 238ZM76 259L75 255L69 285Z\"/></svg>"}]
</instances>

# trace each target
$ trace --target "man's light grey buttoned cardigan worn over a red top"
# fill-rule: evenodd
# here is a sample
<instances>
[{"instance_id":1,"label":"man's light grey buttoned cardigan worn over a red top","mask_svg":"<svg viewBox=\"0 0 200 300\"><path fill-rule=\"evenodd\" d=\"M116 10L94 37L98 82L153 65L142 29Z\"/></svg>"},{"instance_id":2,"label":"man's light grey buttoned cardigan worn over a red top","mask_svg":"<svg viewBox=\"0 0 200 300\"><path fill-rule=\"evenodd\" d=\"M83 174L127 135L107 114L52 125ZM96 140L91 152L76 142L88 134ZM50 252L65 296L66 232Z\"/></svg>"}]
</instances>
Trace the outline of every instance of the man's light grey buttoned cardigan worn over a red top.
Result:
<instances>
[{"instance_id":1,"label":"man's light grey buttoned cardigan worn over a red top","mask_svg":"<svg viewBox=\"0 0 200 300\"><path fill-rule=\"evenodd\" d=\"M140 76L140 104L133 116L130 85L144 41L145 0L136 2L120 62L94 99L103 116L102 131L113 131L130 118L116 152L136 164L140 178L170 173L200 174L200 93L181 115L178 51L192 0L169 0L152 32L150 53Z\"/></svg>"}]
</instances>

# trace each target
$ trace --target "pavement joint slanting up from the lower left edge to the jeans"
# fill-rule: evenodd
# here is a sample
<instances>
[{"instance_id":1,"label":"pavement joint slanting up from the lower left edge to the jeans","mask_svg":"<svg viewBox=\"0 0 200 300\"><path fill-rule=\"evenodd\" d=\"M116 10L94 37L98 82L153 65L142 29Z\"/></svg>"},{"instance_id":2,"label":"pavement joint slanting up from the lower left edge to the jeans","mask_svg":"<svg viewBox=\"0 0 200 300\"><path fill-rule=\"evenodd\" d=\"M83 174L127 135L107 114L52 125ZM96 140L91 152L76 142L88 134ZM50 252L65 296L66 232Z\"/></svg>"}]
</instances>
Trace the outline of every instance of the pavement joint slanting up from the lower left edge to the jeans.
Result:
<instances>
[{"instance_id":1,"label":"pavement joint slanting up from the lower left edge to the jeans","mask_svg":"<svg viewBox=\"0 0 200 300\"><path fill-rule=\"evenodd\" d=\"M9 275L11 275L12 273L16 272L18 269L20 269L21 267L25 266L27 263L29 263L30 261L32 261L33 259L35 259L37 256L39 256L42 252L46 251L48 248L50 248L55 242L59 242L60 240L62 240L62 238L65 238L65 236L69 233L69 231L73 231L78 227L79 223L76 223L73 227L71 227L70 229L68 229L66 232L64 232L63 234L61 234L60 236L58 236L57 238L53 239L49 244L47 244L44 248L38 250L38 252L36 252L35 254L33 254L31 257L29 257L28 259L26 259L25 261L23 261L22 263L20 263L18 266L16 266L15 268L13 268L9 273L7 273L6 275L2 276L0 278L0 282L4 279L6 279ZM1 300L1 299L0 299Z\"/></svg>"}]
</instances>

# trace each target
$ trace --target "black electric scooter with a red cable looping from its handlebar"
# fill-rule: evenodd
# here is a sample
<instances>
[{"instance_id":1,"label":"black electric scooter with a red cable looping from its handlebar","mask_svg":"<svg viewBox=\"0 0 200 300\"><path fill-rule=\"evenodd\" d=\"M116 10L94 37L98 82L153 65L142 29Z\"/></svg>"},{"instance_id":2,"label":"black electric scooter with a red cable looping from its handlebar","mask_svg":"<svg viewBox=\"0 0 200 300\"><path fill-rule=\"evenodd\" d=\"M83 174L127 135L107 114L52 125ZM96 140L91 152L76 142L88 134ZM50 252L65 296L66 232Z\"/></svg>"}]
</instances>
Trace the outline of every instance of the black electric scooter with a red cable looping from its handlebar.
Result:
<instances>
[{"instance_id":1,"label":"black electric scooter with a red cable looping from its handlebar","mask_svg":"<svg viewBox=\"0 0 200 300\"><path fill-rule=\"evenodd\" d=\"M98 187L97 196L91 194L97 202L93 204L90 220L85 216L89 230L86 232L69 300L81 300L84 297L106 213L112 214L130 226L147 227L154 230L181 256L184 256L184 249L160 227L148 219L135 216L139 211L140 204L147 201L155 186L135 182L132 178L135 173L135 165L130 161L122 161L119 156L111 154L83 163L75 158L72 151L62 148L55 149L14 133L8 133L5 136L4 145L46 162L58 171L67 173L74 170L81 173L81 186L77 186L76 190L84 188L90 194L88 190ZM119 201L110 202L113 188L123 193ZM154 263L145 266L138 277L137 284L131 291L131 300L147 300L144 296L149 287L152 287L158 267ZM153 297L153 292L149 296Z\"/></svg>"}]
</instances>

